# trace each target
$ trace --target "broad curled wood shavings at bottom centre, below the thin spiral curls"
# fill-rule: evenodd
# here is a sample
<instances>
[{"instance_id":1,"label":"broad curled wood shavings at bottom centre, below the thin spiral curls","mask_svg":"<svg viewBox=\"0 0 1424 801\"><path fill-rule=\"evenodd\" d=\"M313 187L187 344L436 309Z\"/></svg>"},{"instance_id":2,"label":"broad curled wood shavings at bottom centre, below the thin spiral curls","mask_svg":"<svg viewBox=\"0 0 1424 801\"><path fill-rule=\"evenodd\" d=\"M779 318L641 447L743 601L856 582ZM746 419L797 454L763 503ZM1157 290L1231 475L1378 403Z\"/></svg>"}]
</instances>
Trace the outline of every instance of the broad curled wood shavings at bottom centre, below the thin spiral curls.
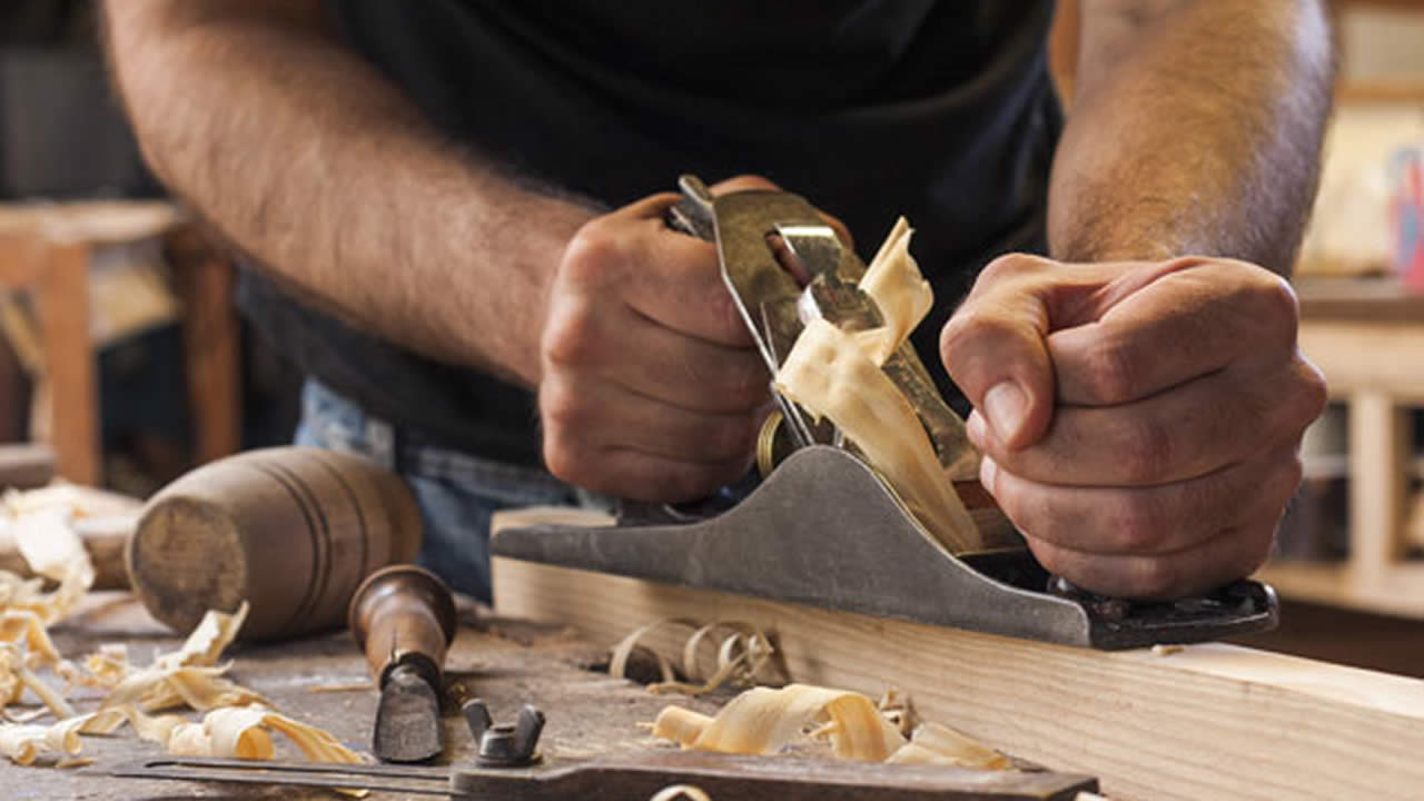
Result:
<instances>
[{"instance_id":1,"label":"broad curled wood shavings at bottom centre, below the thin spiral curls","mask_svg":"<svg viewBox=\"0 0 1424 801\"><path fill-rule=\"evenodd\" d=\"M903 720L903 718L901 718ZM684 748L723 754L778 754L800 741L824 740L839 760L1007 770L1004 754L937 723L921 723L909 738L860 693L810 684L755 687L732 698L716 717L669 706L652 735Z\"/></svg>"}]
</instances>

